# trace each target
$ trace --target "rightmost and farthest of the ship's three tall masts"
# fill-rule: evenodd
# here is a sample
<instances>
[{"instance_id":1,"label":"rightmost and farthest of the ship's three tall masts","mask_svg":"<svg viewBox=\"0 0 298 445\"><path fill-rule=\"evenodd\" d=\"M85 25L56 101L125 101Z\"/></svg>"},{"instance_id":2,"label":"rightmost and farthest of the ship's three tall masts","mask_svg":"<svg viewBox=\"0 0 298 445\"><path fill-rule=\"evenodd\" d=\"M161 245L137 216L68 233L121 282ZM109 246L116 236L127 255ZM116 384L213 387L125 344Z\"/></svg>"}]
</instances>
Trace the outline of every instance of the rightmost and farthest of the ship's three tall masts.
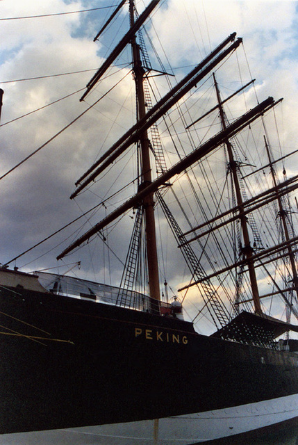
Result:
<instances>
[{"instance_id":1,"label":"rightmost and farthest of the ship's three tall masts","mask_svg":"<svg viewBox=\"0 0 298 445\"><path fill-rule=\"evenodd\" d=\"M290 240L290 234L289 234L289 230L288 230L288 225L287 225L287 221L285 219L286 216L286 211L285 209L283 209L283 202L281 201L281 195L279 194L279 190L277 188L277 181L276 181L276 172L274 170L273 167L273 163L272 163L272 157L270 154L270 149L267 143L267 139L264 136L264 140L265 140L265 148L266 148L266 152L267 152L267 156L268 156L268 160L269 160L269 165L270 165L270 172L272 175L272 180L273 180L273 184L274 187L276 187L276 197L277 197L277 202L279 204L279 216L281 218L281 223L283 225L283 233L285 235L285 241L289 241ZM289 259L290 259L290 264L291 264L291 268L292 268L292 275L293 275L293 282L294 282L294 288L295 291L297 293L298 296L298 277L297 277L297 268L296 268L296 262L295 262L295 256L294 253L292 251L292 247L289 244L288 245L288 254L289 254Z\"/></svg>"}]
</instances>

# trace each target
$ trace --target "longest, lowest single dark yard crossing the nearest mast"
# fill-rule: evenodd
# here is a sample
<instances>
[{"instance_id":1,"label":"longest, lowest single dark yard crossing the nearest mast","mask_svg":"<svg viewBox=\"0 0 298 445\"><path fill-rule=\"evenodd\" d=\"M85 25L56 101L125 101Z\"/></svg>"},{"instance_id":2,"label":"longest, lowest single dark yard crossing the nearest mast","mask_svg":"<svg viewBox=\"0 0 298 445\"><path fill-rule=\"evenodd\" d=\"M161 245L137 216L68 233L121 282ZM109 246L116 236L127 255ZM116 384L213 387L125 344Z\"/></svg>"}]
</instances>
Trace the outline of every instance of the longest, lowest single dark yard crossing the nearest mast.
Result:
<instances>
[{"instance_id":1,"label":"longest, lowest single dark yard crossing the nearest mast","mask_svg":"<svg viewBox=\"0 0 298 445\"><path fill-rule=\"evenodd\" d=\"M181 161L173 165L172 168L167 170L167 172L165 172L163 175L160 175L160 177L158 177L155 181L152 181L149 186L144 187L142 191L139 191L136 195L124 202L122 206L118 207L118 209L115 209L112 213L110 213L110 215L106 216L106 218L94 225L92 229L88 230L88 232L85 232L85 234L80 236L80 238L74 241L74 243L69 245L68 248L63 250L63 252L58 255L57 259L65 257L66 254L72 252L72 250L87 241L90 236L96 234L97 232L99 232L99 230L106 227L106 225L112 223L124 212L140 204L144 197L149 195L149 193L157 191L160 186L163 186L174 175L179 175L179 173L186 170L188 167L190 167L190 165L199 161L199 159L201 159L203 156L206 156L206 154L210 153L211 151L213 151L213 149L224 143L224 140L227 137L234 136L236 133L238 133L238 131L251 124L251 122L254 122L254 120L260 117L260 115L263 115L263 113L268 111L274 105L274 99L272 97L268 97L267 99L265 99L265 101L261 102L250 111L247 111L247 113L231 123L228 127L226 127L226 129L220 131L220 133L217 133L215 136L206 141L206 143L200 145L197 149L194 149L192 153L188 154L188 156L185 156L185 158L181 159Z\"/></svg>"}]
</instances>

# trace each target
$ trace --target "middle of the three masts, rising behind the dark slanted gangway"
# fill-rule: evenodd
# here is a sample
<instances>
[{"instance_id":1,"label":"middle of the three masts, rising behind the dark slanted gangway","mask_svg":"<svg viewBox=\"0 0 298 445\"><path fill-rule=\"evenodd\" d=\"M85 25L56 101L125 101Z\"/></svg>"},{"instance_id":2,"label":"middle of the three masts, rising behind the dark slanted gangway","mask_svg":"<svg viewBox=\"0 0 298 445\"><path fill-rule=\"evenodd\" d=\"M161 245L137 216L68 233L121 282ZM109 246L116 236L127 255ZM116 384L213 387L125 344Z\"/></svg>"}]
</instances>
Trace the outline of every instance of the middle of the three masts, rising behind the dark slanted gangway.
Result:
<instances>
[{"instance_id":1,"label":"middle of the three masts, rising behind the dark slanted gangway","mask_svg":"<svg viewBox=\"0 0 298 445\"><path fill-rule=\"evenodd\" d=\"M213 74L213 79L215 83L215 90L217 95L217 101L219 104L219 110L220 110L220 120L222 122L222 129L226 129L226 118L224 115L224 108L222 106L222 100L220 98L220 90L217 85L217 81L215 79L215 74ZM240 224L243 234L243 240L244 240L244 248L242 248L242 253L245 254L245 257L247 259L247 266L249 270L249 280L251 282L251 292L252 292L252 298L254 300L254 310L256 313L260 314L262 313L262 309L260 307L260 296L258 293L258 283L256 280L256 270L254 268L254 260L252 259L254 250L251 248L251 243L249 239L249 231L247 227L247 218L244 213L243 209L243 200L242 195L240 191L240 184L238 179L238 172L237 172L237 163L233 156L233 147L231 145L231 142L229 141L229 138L226 138L225 140L226 149L229 156L229 168L231 170L231 175L233 177L233 184L235 186L235 194L236 194L236 200L239 207L239 218L240 218Z\"/></svg>"}]
</instances>

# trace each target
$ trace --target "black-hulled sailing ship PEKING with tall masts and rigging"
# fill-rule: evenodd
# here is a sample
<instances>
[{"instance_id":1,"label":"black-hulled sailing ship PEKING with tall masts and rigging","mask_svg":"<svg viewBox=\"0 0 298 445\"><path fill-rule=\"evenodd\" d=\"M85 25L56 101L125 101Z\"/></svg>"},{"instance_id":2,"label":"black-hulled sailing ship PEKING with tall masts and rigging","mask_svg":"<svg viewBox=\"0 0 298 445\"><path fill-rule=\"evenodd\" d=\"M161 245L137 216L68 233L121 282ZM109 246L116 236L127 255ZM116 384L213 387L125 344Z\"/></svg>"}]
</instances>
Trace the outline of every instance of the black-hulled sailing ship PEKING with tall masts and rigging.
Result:
<instances>
[{"instance_id":1,"label":"black-hulled sailing ship PEKING with tall masts and rigging","mask_svg":"<svg viewBox=\"0 0 298 445\"><path fill-rule=\"evenodd\" d=\"M109 133L76 179L72 200L89 193L104 216L57 258L116 245L122 276L28 273L17 268L23 254L1 266L1 444L42 431L56 444L81 432L104 444L190 445L297 424L298 175L287 176L292 154L276 156L281 99L258 98L247 77L223 90L221 73L235 74L242 51L236 33L175 80L149 58L145 25L163 2L140 14L135 3L119 2L95 36L128 19L81 96L86 113L132 81L135 122ZM123 51L131 63L119 72Z\"/></svg>"}]
</instances>

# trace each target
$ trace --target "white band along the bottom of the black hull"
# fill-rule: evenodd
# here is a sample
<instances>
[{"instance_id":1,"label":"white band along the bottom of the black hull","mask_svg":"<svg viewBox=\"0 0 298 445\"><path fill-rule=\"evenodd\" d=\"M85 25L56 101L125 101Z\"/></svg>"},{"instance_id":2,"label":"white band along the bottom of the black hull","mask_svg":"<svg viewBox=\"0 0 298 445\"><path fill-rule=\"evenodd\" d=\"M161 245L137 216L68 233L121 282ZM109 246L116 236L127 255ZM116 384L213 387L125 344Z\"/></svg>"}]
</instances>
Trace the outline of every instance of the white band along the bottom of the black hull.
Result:
<instances>
[{"instance_id":1,"label":"white band along the bottom of the black hull","mask_svg":"<svg viewBox=\"0 0 298 445\"><path fill-rule=\"evenodd\" d=\"M298 419L298 394L155 421L2 435L0 445L62 445L68 440L83 445L88 435L96 437L99 445L191 445L272 426L295 417Z\"/></svg>"}]
</instances>

